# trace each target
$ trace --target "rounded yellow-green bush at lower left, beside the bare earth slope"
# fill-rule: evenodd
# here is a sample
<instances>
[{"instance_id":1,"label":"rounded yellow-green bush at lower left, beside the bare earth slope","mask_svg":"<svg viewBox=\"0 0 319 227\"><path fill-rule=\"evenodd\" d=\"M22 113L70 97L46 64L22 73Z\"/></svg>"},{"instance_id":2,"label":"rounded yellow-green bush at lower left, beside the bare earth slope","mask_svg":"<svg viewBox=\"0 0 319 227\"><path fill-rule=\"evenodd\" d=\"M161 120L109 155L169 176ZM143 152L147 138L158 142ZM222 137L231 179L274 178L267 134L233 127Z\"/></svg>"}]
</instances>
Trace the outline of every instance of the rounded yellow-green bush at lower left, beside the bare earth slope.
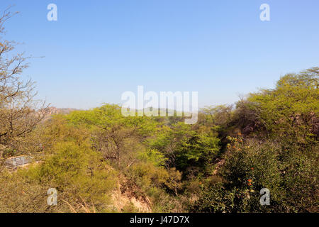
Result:
<instances>
[{"instance_id":1,"label":"rounded yellow-green bush at lower left, beside the bare earth slope","mask_svg":"<svg viewBox=\"0 0 319 227\"><path fill-rule=\"evenodd\" d=\"M88 146L63 142L55 145L54 150L42 163L26 170L26 177L56 188L65 201L84 199L94 203L98 211L106 210L116 172L103 164L100 155Z\"/></svg>"}]
</instances>

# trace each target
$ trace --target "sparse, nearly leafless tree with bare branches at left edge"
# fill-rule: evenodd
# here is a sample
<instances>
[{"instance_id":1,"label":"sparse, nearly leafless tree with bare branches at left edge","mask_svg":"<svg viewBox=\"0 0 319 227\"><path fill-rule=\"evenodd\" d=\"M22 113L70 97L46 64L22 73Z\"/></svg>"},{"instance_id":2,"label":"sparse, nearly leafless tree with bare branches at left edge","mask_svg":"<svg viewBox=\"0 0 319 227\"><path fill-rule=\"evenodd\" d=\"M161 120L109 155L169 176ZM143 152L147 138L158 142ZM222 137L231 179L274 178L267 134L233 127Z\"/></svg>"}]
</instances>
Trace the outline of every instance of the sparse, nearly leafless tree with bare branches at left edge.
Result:
<instances>
[{"instance_id":1,"label":"sparse, nearly leafless tree with bare branches at left edge","mask_svg":"<svg viewBox=\"0 0 319 227\"><path fill-rule=\"evenodd\" d=\"M26 153L26 135L45 116L44 101L35 100L34 82L23 81L28 67L23 53L16 54L17 43L4 38L4 23L15 13L4 11L0 17L0 160L4 150Z\"/></svg>"}]
</instances>

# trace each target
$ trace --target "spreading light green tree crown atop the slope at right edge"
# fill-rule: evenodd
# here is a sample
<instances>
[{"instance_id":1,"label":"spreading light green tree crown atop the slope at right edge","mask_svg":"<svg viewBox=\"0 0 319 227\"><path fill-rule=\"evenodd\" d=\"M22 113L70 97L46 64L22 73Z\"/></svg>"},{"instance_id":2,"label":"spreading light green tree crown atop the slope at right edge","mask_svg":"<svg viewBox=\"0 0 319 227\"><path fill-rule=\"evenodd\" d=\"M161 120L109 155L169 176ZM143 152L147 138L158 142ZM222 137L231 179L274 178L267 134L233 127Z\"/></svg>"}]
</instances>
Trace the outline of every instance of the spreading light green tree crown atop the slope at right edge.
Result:
<instances>
[{"instance_id":1,"label":"spreading light green tree crown atop the slope at right edge","mask_svg":"<svg viewBox=\"0 0 319 227\"><path fill-rule=\"evenodd\" d=\"M313 122L319 118L319 68L286 74L275 89L250 94L249 109L273 137L308 143L315 139ZM318 135L317 135L318 136ZM291 140L289 142L292 142Z\"/></svg>"}]
</instances>

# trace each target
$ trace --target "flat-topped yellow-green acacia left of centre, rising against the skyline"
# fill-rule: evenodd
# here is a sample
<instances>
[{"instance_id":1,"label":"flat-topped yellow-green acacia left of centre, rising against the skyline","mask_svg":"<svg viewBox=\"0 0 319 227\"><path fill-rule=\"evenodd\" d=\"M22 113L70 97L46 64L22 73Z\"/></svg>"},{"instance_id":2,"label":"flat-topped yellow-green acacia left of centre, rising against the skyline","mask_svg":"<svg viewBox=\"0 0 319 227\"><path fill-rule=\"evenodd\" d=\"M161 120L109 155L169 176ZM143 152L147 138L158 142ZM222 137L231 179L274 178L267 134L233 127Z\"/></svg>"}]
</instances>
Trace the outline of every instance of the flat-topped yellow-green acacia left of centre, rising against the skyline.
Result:
<instances>
[{"instance_id":1,"label":"flat-topped yellow-green acacia left of centre, rising against the skyline","mask_svg":"<svg viewBox=\"0 0 319 227\"><path fill-rule=\"evenodd\" d=\"M130 167L137 160L142 141L157 123L151 118L125 117L118 105L105 104L89 111L73 111L67 116L74 126L91 130L92 146L105 160L116 162L119 169Z\"/></svg>"}]
</instances>

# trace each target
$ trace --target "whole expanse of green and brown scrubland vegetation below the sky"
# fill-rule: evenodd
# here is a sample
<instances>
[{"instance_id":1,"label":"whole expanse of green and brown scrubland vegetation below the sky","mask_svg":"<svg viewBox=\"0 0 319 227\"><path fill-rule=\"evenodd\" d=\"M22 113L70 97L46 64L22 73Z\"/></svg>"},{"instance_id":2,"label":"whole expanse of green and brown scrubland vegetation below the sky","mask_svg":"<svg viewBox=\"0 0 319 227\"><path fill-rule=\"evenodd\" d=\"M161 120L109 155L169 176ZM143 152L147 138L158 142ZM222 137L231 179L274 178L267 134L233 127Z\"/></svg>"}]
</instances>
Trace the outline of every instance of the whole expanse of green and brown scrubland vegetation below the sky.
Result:
<instances>
[{"instance_id":1,"label":"whole expanse of green and brown scrubland vegetation below the sky","mask_svg":"<svg viewBox=\"0 0 319 227\"><path fill-rule=\"evenodd\" d=\"M201 109L194 125L111 104L47 118L13 49L1 37L0 212L318 212L318 67ZM35 162L4 167L17 155Z\"/></svg>"}]
</instances>

